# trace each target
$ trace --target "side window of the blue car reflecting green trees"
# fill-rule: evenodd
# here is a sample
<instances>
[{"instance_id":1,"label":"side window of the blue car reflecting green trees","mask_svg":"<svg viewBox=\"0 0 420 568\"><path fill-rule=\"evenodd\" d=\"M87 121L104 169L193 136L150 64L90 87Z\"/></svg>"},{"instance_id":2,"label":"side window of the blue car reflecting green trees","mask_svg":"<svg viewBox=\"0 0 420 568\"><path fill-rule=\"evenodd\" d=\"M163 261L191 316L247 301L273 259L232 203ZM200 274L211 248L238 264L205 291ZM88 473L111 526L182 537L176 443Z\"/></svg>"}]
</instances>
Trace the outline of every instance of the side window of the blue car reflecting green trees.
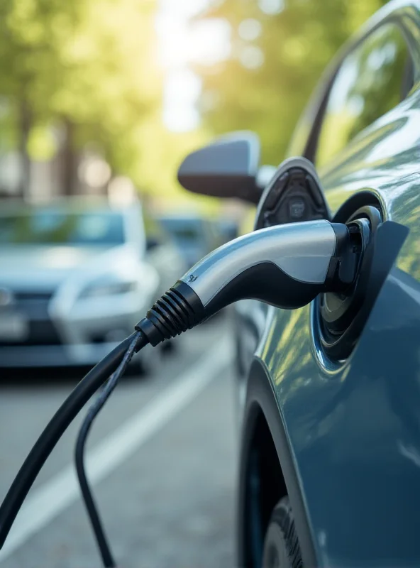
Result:
<instances>
[{"instance_id":1,"label":"side window of the blue car reflecting green trees","mask_svg":"<svg viewBox=\"0 0 420 568\"><path fill-rule=\"evenodd\" d=\"M411 58L402 32L387 24L342 62L328 95L316 151L328 163L363 129L404 99L412 86Z\"/></svg>"}]
</instances>

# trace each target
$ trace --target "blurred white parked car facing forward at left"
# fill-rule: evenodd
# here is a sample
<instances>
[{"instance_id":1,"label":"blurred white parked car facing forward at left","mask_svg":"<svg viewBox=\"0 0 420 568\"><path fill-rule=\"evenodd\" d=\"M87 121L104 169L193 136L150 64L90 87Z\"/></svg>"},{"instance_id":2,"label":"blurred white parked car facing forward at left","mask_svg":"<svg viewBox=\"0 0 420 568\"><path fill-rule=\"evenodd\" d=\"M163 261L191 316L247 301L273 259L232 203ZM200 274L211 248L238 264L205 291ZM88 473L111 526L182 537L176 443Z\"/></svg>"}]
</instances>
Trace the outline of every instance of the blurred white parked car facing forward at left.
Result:
<instances>
[{"instance_id":1,"label":"blurred white parked car facing forward at left","mask_svg":"<svg viewBox=\"0 0 420 568\"><path fill-rule=\"evenodd\" d=\"M0 212L0 366L96 364L182 259L140 203L65 200Z\"/></svg>"}]
</instances>

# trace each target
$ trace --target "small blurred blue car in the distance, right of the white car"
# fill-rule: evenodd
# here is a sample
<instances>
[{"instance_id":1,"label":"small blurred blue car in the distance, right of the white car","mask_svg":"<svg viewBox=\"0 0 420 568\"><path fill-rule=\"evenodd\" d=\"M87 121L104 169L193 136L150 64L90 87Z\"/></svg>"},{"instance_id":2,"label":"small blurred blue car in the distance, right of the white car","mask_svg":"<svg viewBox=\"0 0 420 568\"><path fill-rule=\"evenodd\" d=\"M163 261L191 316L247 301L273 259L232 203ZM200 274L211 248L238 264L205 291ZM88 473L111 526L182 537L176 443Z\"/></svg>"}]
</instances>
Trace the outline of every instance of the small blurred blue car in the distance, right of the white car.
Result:
<instances>
[{"instance_id":1,"label":"small blurred blue car in the distance, right of the white car","mask_svg":"<svg viewBox=\"0 0 420 568\"><path fill-rule=\"evenodd\" d=\"M175 240L187 268L223 243L221 231L214 222L199 215L165 215L159 221Z\"/></svg>"}]
</instances>

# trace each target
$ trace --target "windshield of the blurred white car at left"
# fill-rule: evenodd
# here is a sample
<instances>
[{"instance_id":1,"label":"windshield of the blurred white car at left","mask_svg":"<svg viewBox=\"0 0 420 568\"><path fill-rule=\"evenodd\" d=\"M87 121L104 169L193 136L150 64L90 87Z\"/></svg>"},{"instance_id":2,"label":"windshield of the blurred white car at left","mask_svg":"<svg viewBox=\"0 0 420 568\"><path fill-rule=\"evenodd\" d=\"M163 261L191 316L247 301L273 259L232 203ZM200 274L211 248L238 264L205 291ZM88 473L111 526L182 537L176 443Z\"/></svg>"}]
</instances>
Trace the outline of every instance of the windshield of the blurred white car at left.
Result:
<instances>
[{"instance_id":1,"label":"windshield of the blurred white car at left","mask_svg":"<svg viewBox=\"0 0 420 568\"><path fill-rule=\"evenodd\" d=\"M1 244L123 244L123 217L116 212L37 209L0 217Z\"/></svg>"}]
</instances>

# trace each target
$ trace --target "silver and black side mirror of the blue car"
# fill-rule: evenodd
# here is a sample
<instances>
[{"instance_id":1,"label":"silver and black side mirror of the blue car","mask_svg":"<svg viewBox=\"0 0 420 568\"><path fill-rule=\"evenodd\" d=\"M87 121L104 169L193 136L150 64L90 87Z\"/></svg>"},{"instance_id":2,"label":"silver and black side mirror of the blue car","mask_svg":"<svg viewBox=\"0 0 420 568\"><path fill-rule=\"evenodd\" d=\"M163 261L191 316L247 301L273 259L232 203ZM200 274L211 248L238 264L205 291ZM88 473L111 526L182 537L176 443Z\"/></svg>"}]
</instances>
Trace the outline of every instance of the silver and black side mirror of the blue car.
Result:
<instances>
[{"instance_id":1,"label":"silver and black side mirror of the blue car","mask_svg":"<svg viewBox=\"0 0 420 568\"><path fill-rule=\"evenodd\" d=\"M257 204L260 140L250 131L233 132L187 155L178 170L186 190L213 197L238 197Z\"/></svg>"}]
</instances>

